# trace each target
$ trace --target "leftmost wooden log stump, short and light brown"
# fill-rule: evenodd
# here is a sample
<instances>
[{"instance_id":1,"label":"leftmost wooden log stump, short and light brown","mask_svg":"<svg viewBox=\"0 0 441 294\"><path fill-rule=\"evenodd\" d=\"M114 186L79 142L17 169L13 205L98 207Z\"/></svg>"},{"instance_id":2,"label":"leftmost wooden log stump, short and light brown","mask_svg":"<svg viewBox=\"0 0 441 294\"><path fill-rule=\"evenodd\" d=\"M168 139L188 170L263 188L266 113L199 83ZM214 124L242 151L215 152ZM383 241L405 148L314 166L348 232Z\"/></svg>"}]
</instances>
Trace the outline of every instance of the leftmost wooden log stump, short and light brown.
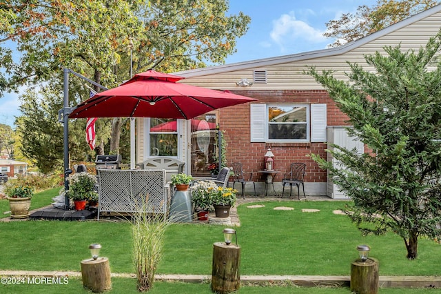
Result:
<instances>
[{"instance_id":1,"label":"leftmost wooden log stump, short and light brown","mask_svg":"<svg viewBox=\"0 0 441 294\"><path fill-rule=\"evenodd\" d=\"M83 286L92 292L102 292L112 289L110 280L110 265L107 257L85 259L81 261L81 277Z\"/></svg>"}]
</instances>

